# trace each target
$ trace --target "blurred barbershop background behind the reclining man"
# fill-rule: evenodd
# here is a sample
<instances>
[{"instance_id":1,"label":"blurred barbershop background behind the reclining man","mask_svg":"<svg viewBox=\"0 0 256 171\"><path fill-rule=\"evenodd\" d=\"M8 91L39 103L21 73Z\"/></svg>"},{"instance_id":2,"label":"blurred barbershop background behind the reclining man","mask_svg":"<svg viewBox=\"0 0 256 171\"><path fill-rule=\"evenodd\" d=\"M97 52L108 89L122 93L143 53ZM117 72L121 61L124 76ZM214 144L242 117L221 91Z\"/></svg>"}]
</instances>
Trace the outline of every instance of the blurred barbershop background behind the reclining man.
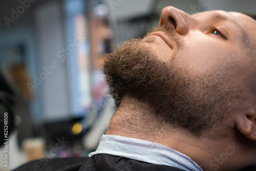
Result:
<instances>
[{"instance_id":1,"label":"blurred barbershop background behind the reclining man","mask_svg":"<svg viewBox=\"0 0 256 171\"><path fill-rule=\"evenodd\" d=\"M103 55L157 26L165 6L256 13L253 0L2 0L0 141L8 113L9 167L1 161L0 170L94 151L115 111Z\"/></svg>"}]
</instances>

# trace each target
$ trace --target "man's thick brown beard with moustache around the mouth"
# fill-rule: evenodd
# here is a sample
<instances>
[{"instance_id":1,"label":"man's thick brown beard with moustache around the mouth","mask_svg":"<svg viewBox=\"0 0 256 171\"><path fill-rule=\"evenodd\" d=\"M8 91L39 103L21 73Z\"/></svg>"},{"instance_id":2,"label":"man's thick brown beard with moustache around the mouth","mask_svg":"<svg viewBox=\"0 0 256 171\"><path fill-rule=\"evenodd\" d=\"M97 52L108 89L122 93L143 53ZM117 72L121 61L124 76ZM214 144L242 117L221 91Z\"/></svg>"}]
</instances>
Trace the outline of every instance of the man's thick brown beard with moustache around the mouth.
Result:
<instances>
[{"instance_id":1,"label":"man's thick brown beard with moustache around the mouth","mask_svg":"<svg viewBox=\"0 0 256 171\"><path fill-rule=\"evenodd\" d=\"M179 67L175 60L182 52L182 42L169 27L163 31L177 45L170 61L162 61L149 44L152 39L132 39L123 42L113 53L106 54L102 71L109 84L109 93L118 107L124 95L152 106L162 122L200 136L236 110L241 97L227 86L224 74L197 75Z\"/></svg>"}]
</instances>

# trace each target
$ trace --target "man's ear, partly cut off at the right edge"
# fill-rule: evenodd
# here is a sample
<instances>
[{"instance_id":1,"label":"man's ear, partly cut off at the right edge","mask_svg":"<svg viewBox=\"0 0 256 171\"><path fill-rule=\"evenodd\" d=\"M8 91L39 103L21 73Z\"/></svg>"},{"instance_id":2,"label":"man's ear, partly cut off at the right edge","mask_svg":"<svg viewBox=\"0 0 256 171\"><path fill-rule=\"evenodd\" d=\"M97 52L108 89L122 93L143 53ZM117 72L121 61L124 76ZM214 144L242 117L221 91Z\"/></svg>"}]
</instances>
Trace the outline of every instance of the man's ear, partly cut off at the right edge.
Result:
<instances>
[{"instance_id":1,"label":"man's ear, partly cut off at the right edge","mask_svg":"<svg viewBox=\"0 0 256 171\"><path fill-rule=\"evenodd\" d=\"M248 139L256 141L256 113L244 113L236 120L238 130Z\"/></svg>"}]
</instances>

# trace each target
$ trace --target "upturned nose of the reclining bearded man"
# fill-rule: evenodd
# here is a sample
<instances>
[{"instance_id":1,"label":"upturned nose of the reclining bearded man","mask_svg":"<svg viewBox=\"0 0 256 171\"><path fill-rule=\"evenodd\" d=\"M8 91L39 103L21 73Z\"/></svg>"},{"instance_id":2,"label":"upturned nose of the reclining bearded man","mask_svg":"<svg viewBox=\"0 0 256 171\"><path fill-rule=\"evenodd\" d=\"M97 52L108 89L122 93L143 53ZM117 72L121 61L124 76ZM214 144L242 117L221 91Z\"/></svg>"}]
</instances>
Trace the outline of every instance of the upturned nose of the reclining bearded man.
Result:
<instances>
[{"instance_id":1,"label":"upturned nose of the reclining bearded man","mask_svg":"<svg viewBox=\"0 0 256 171\"><path fill-rule=\"evenodd\" d=\"M169 6L162 10L159 26L173 25L177 33L185 35L189 31L191 19L192 17L188 13Z\"/></svg>"}]
</instances>

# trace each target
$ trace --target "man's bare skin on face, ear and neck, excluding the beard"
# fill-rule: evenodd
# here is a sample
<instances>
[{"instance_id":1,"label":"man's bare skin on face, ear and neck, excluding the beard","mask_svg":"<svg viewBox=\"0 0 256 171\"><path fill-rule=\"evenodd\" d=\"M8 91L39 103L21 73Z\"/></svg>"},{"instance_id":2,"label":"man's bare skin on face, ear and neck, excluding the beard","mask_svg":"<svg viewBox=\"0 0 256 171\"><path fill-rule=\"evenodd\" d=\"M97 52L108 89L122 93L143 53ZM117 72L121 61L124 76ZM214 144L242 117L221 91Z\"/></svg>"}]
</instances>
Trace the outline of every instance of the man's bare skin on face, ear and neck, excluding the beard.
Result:
<instances>
[{"instance_id":1,"label":"man's bare skin on face, ear and neck, excluding the beard","mask_svg":"<svg viewBox=\"0 0 256 171\"><path fill-rule=\"evenodd\" d=\"M153 39L148 46L159 59L166 62L176 60L179 67L197 75L223 74L227 86L243 90L246 98L232 115L197 137L164 122L159 124L151 106L125 95L106 135L138 138L169 146L190 157L203 170L240 170L255 165L255 20L238 12L207 11L189 15L174 7L166 7L159 26L169 25L176 28L176 35L182 42L182 50L175 58L173 54L177 52L177 46L172 38L159 31L145 37ZM131 123L134 125L132 129ZM232 154L231 144L236 146ZM225 154L227 159L219 159Z\"/></svg>"}]
</instances>

